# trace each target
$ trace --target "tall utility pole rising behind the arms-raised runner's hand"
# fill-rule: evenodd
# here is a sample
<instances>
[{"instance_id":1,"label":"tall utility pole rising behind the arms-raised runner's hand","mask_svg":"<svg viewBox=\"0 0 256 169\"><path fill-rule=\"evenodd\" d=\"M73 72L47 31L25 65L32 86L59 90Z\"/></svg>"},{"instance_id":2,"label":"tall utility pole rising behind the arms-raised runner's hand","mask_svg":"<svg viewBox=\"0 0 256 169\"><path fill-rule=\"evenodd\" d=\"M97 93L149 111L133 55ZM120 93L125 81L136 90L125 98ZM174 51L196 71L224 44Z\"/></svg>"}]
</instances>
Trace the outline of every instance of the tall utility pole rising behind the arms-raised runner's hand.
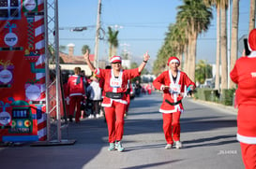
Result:
<instances>
[{"instance_id":1,"label":"tall utility pole rising behind the arms-raised runner's hand","mask_svg":"<svg viewBox=\"0 0 256 169\"><path fill-rule=\"evenodd\" d=\"M98 0L98 15L96 25L96 36L95 36L95 49L94 49L94 65L98 67L98 40L99 40L99 29L100 29L100 13L101 13L101 0Z\"/></svg>"}]
</instances>

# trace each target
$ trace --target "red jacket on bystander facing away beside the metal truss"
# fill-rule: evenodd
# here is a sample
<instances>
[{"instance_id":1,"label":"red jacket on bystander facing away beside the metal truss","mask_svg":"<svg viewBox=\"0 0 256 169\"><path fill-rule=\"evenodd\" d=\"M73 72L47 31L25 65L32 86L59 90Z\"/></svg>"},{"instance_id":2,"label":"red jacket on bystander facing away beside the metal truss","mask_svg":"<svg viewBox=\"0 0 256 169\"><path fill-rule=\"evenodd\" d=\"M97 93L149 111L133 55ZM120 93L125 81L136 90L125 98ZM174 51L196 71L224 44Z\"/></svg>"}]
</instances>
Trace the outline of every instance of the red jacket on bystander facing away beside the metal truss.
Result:
<instances>
[{"instance_id":1,"label":"red jacket on bystander facing away beside the metal truss","mask_svg":"<svg viewBox=\"0 0 256 169\"><path fill-rule=\"evenodd\" d=\"M83 77L80 77L80 83L77 84L77 78L80 76L72 75L68 77L68 90L67 94L68 96L74 96L74 95L85 95L84 91L84 85L83 85Z\"/></svg>"}]
</instances>

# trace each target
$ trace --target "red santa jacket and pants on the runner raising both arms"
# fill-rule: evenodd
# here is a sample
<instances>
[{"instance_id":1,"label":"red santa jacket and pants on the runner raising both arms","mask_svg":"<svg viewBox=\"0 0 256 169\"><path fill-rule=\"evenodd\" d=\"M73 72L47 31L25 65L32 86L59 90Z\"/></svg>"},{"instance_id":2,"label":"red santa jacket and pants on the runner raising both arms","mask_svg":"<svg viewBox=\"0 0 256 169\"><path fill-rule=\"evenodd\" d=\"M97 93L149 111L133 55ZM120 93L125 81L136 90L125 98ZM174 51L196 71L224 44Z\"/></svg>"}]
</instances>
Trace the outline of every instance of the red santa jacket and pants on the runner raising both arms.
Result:
<instances>
[{"instance_id":1,"label":"red santa jacket and pants on the runner raising both arms","mask_svg":"<svg viewBox=\"0 0 256 169\"><path fill-rule=\"evenodd\" d=\"M140 75L138 68L128 69L119 72L118 77L114 77L112 69L97 69L95 74L104 78L104 92L125 93L127 91L128 79ZM128 105L127 95L121 99L103 98L101 106L105 106L105 116L108 123L109 142L121 140L124 134L124 115Z\"/></svg>"}]
</instances>

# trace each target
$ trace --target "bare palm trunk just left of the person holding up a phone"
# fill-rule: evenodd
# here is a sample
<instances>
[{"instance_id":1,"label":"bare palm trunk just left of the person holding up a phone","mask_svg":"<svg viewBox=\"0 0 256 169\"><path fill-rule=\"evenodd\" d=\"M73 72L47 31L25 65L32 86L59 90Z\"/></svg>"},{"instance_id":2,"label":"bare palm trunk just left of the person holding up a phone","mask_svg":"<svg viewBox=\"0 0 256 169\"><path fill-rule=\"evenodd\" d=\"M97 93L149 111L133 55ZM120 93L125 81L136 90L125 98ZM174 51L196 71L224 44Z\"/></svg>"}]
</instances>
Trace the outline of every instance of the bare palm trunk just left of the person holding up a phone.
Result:
<instances>
[{"instance_id":1,"label":"bare palm trunk just left of the person holding up a phone","mask_svg":"<svg viewBox=\"0 0 256 169\"><path fill-rule=\"evenodd\" d=\"M237 60L237 48L238 48L238 18L239 18L239 0L233 0L232 9L232 43L231 43L231 64L230 68L233 69L233 65ZM235 88L235 84L230 80L230 89Z\"/></svg>"}]
</instances>

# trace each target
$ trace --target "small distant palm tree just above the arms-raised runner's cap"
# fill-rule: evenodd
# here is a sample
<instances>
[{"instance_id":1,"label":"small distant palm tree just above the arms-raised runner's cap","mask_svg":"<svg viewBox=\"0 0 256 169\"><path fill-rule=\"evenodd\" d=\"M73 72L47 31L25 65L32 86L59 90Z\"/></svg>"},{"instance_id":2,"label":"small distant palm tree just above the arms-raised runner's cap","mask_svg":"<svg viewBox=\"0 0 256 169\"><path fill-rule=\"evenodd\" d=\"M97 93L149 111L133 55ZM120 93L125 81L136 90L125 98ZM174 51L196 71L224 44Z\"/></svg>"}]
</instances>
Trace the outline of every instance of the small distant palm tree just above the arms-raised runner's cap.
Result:
<instances>
[{"instance_id":1,"label":"small distant palm tree just above the arms-raised runner's cap","mask_svg":"<svg viewBox=\"0 0 256 169\"><path fill-rule=\"evenodd\" d=\"M116 48L118 47L118 31L113 31L111 27L108 27L108 42L110 44L109 58L111 58L114 54L116 54Z\"/></svg>"}]
</instances>

